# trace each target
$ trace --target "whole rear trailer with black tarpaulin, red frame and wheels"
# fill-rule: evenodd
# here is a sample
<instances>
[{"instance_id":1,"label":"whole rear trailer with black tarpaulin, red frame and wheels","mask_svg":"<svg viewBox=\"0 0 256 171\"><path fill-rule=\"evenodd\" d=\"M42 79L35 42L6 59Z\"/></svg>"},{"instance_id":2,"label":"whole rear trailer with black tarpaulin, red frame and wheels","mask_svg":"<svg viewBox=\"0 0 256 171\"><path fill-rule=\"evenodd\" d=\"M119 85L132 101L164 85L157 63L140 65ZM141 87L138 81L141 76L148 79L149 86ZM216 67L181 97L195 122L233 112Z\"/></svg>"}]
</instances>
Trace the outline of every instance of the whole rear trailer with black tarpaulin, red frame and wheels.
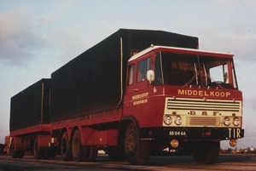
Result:
<instances>
[{"instance_id":1,"label":"whole rear trailer with black tarpaulin, red frame and wheels","mask_svg":"<svg viewBox=\"0 0 256 171\"><path fill-rule=\"evenodd\" d=\"M49 146L49 99L50 79L41 79L11 98L9 130L13 158L23 158L26 151L43 158L38 154L46 153L44 149Z\"/></svg>"}]
</instances>

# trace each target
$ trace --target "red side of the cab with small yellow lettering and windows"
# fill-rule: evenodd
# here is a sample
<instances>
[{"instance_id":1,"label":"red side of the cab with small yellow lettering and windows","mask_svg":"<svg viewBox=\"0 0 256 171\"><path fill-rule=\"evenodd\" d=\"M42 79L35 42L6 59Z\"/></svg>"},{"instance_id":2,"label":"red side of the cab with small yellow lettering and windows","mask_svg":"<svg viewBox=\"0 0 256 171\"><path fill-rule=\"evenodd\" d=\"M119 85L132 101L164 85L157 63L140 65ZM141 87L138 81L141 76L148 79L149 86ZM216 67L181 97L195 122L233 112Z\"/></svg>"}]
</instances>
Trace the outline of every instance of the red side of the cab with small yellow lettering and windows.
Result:
<instances>
[{"instance_id":1,"label":"red side of the cab with small yellow lettering and windows","mask_svg":"<svg viewBox=\"0 0 256 171\"><path fill-rule=\"evenodd\" d=\"M128 64L128 80L124 98L124 115L134 116L140 127L146 127L150 115L149 97L153 93L147 80L153 54L147 54Z\"/></svg>"}]
</instances>

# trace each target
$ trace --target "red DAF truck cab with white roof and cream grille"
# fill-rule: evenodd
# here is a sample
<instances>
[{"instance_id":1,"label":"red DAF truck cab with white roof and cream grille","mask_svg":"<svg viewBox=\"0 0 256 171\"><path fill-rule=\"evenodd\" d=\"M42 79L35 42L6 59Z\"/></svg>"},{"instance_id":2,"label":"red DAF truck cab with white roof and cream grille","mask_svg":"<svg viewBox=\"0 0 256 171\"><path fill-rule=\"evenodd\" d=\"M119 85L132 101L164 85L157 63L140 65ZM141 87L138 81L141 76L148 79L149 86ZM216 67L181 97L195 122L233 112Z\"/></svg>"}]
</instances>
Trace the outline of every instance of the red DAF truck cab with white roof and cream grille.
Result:
<instances>
[{"instance_id":1,"label":"red DAF truck cab with white roof and cream grille","mask_svg":"<svg viewBox=\"0 0 256 171\"><path fill-rule=\"evenodd\" d=\"M236 146L244 130L233 56L154 45L132 56L124 116L134 117L140 146L150 155L168 149L200 163L217 159L221 140Z\"/></svg>"}]
</instances>

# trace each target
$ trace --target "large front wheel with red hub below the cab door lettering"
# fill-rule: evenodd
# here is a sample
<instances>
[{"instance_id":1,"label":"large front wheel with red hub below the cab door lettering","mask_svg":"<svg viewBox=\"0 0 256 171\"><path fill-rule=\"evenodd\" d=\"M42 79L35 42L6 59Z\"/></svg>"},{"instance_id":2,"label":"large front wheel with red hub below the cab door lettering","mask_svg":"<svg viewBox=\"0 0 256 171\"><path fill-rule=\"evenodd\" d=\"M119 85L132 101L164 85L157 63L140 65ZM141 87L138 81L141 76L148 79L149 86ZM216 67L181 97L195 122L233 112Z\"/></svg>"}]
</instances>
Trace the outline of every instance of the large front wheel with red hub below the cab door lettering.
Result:
<instances>
[{"instance_id":1,"label":"large front wheel with red hub below the cab door lettering","mask_svg":"<svg viewBox=\"0 0 256 171\"><path fill-rule=\"evenodd\" d=\"M151 152L149 141L139 140L139 130L134 123L130 123L125 133L125 156L130 164L145 164Z\"/></svg>"}]
</instances>

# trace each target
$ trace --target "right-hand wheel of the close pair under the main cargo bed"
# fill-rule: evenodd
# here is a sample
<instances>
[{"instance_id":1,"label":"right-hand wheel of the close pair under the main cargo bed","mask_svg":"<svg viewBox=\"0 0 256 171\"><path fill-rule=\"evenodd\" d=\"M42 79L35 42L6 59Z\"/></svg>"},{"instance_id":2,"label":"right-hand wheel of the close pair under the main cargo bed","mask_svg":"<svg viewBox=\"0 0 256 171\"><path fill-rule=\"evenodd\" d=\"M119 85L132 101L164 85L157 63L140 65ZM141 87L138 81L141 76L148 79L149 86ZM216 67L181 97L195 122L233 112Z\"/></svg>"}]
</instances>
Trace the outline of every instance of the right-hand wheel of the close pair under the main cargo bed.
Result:
<instances>
[{"instance_id":1,"label":"right-hand wheel of the close pair under the main cargo bed","mask_svg":"<svg viewBox=\"0 0 256 171\"><path fill-rule=\"evenodd\" d=\"M80 131L76 130L72 139L72 155L75 162L84 161L83 145L81 145Z\"/></svg>"}]
</instances>

